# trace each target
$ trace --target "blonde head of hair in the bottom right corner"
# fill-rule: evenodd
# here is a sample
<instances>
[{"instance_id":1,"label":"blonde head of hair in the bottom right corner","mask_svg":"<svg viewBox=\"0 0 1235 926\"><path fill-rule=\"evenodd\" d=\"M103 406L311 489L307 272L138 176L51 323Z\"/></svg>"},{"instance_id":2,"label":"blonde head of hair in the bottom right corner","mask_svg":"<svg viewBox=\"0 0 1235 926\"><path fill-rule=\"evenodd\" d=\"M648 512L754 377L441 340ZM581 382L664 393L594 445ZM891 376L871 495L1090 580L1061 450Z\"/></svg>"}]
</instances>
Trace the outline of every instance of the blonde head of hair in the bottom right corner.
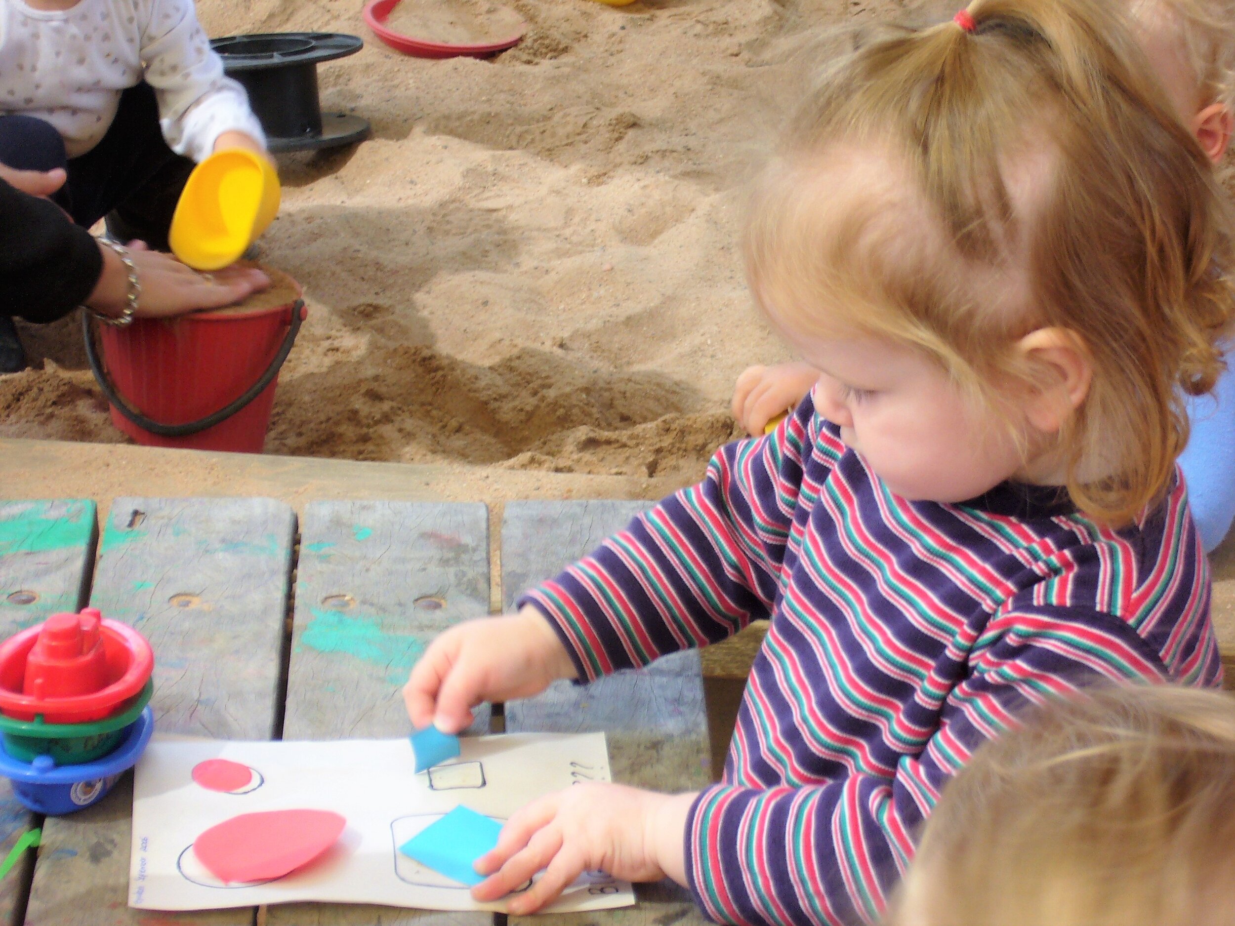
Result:
<instances>
[{"instance_id":1,"label":"blonde head of hair in the bottom right corner","mask_svg":"<svg viewBox=\"0 0 1235 926\"><path fill-rule=\"evenodd\" d=\"M888 926L1235 924L1235 701L1053 703L948 783Z\"/></svg>"}]
</instances>

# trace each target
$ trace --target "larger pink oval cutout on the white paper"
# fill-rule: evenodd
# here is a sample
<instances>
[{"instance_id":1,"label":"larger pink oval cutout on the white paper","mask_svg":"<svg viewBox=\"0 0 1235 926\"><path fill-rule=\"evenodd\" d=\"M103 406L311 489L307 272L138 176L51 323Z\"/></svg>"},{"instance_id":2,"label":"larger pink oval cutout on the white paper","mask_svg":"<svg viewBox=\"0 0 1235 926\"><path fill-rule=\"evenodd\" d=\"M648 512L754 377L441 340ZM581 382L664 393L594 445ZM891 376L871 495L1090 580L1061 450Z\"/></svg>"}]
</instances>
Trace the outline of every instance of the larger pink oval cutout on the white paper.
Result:
<instances>
[{"instance_id":1,"label":"larger pink oval cutout on the white paper","mask_svg":"<svg viewBox=\"0 0 1235 926\"><path fill-rule=\"evenodd\" d=\"M193 853L226 884L282 878L335 845L347 821L329 810L241 814L211 826Z\"/></svg>"}]
</instances>

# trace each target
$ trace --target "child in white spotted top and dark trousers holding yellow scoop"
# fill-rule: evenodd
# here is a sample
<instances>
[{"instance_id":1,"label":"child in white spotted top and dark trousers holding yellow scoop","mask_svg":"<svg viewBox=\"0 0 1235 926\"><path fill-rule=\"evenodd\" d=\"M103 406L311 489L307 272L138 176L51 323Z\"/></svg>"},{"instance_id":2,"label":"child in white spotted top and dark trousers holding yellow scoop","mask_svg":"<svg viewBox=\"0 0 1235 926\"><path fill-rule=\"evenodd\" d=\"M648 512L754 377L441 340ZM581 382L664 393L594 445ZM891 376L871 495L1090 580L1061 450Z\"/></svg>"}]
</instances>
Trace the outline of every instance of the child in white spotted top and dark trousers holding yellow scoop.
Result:
<instances>
[{"instance_id":1,"label":"child in white spotted top and dark trousers holding yellow scoop","mask_svg":"<svg viewBox=\"0 0 1235 926\"><path fill-rule=\"evenodd\" d=\"M0 2L0 164L63 168L52 199L78 225L167 251L194 162L226 147L266 141L191 0ZM25 365L7 315L0 348Z\"/></svg>"}]
</instances>

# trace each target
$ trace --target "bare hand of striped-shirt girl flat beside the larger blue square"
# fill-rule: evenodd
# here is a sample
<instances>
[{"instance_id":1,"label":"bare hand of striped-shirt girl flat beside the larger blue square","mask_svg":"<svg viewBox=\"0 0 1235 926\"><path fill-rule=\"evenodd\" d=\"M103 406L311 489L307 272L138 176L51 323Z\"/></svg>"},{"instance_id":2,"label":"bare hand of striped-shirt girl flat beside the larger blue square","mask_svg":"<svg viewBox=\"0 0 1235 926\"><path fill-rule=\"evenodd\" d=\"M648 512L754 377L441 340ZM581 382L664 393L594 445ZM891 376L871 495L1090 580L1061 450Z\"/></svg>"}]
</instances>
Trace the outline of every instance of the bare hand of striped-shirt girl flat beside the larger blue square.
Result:
<instances>
[{"instance_id":1,"label":"bare hand of striped-shirt girl flat beside the larger blue square","mask_svg":"<svg viewBox=\"0 0 1235 926\"><path fill-rule=\"evenodd\" d=\"M627 882L685 882L683 840L694 794L657 794L618 784L579 784L529 804L501 830L498 847L475 869L489 874L472 889L482 903L503 898L545 874L509 912L534 914L584 872Z\"/></svg>"}]
</instances>

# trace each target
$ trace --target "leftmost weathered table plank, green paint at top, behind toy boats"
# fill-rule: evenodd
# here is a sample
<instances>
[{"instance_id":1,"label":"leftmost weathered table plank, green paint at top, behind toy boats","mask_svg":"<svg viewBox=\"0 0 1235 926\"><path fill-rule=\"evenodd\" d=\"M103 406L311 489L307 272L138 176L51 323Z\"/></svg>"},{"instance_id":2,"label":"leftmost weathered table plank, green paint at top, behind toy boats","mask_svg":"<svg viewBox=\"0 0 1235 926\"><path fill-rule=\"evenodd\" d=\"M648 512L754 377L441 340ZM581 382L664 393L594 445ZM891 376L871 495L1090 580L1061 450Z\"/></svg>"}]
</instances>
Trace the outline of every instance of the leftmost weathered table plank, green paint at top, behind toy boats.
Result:
<instances>
[{"instance_id":1,"label":"leftmost weathered table plank, green paint at top, behind toy boats","mask_svg":"<svg viewBox=\"0 0 1235 926\"><path fill-rule=\"evenodd\" d=\"M0 641L57 611L85 605L98 532L89 500L0 504ZM0 858L33 825L12 785L0 779ZM20 915L33 874L27 853L0 882L0 922L11 924Z\"/></svg>"}]
</instances>

